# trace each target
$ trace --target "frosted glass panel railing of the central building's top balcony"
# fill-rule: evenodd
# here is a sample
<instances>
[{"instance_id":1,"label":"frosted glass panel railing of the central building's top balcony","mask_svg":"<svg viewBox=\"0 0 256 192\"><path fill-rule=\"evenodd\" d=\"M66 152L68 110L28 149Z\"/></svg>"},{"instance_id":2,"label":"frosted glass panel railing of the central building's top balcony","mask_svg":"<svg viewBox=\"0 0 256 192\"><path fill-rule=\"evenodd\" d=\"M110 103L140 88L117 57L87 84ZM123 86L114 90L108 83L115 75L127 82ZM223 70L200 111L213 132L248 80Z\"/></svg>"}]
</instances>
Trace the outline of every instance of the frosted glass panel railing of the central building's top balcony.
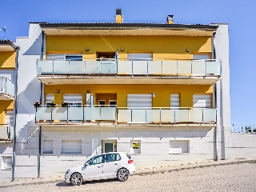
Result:
<instances>
[{"instance_id":1,"label":"frosted glass panel railing of the central building's top balcony","mask_svg":"<svg viewBox=\"0 0 256 192\"><path fill-rule=\"evenodd\" d=\"M166 59L124 60L90 59L83 61L38 60L38 75L44 74L115 74L115 75L221 75L219 60L180 60Z\"/></svg>"}]
</instances>

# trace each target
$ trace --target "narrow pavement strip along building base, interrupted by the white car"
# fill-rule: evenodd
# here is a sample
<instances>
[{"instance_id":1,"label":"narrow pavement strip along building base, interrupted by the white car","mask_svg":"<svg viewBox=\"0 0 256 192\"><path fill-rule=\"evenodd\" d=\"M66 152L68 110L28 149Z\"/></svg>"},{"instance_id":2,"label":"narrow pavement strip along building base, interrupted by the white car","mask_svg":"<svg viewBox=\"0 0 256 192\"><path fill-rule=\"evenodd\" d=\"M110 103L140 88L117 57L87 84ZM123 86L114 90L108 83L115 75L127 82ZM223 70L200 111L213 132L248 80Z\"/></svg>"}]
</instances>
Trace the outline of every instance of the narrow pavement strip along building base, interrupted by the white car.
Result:
<instances>
[{"instance_id":1,"label":"narrow pavement strip along building base, interrupted by the white car","mask_svg":"<svg viewBox=\"0 0 256 192\"><path fill-rule=\"evenodd\" d=\"M240 161L234 161L234 162L211 162L206 163L205 165L200 165L200 163L197 165L196 163L191 164L182 164L177 166L161 166L161 167L152 167L152 168L146 168L142 169L141 172L138 170L138 172L134 173L133 175L138 176L146 176L150 174L166 174L174 171L179 170L191 170L191 169L197 169L197 168L204 168L204 167L210 167L210 166L228 166L228 165L234 165L234 164L240 164L240 163L253 163L256 162L255 159L250 160L240 160ZM130 175L130 176L133 176ZM6 183L0 183L0 188L6 188L6 187L12 187L12 186L29 186L29 185L36 185L36 184L45 184L45 183L53 183L53 182L63 182L64 178L35 178L30 180L19 180L17 182L6 182Z\"/></svg>"}]
</instances>

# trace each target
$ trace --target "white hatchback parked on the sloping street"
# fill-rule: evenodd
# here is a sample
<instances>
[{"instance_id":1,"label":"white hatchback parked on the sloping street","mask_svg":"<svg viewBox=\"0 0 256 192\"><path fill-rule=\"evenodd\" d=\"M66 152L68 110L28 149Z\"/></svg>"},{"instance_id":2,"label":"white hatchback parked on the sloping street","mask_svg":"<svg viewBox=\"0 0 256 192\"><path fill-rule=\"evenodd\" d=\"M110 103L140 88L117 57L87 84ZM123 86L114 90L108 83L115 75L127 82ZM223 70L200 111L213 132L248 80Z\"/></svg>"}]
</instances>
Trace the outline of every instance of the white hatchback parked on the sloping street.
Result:
<instances>
[{"instance_id":1,"label":"white hatchback parked on the sloping street","mask_svg":"<svg viewBox=\"0 0 256 192\"><path fill-rule=\"evenodd\" d=\"M71 182L74 186L79 186L84 181L105 178L118 178L124 182L134 171L134 160L125 152L98 154L84 165L67 170L64 182Z\"/></svg>"}]
</instances>

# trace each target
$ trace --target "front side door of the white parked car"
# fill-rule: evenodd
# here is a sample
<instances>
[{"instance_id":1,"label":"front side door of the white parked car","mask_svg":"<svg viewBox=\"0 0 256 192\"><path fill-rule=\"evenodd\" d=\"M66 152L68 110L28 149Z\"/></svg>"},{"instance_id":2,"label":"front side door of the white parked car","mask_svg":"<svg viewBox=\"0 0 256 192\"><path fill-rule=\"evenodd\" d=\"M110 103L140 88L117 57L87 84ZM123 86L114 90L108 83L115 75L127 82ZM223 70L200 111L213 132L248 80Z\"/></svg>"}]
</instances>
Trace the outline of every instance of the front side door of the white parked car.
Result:
<instances>
[{"instance_id":1,"label":"front side door of the white parked car","mask_svg":"<svg viewBox=\"0 0 256 192\"><path fill-rule=\"evenodd\" d=\"M104 155L98 155L86 162L87 166L83 171L83 179L98 179L103 176Z\"/></svg>"}]
</instances>

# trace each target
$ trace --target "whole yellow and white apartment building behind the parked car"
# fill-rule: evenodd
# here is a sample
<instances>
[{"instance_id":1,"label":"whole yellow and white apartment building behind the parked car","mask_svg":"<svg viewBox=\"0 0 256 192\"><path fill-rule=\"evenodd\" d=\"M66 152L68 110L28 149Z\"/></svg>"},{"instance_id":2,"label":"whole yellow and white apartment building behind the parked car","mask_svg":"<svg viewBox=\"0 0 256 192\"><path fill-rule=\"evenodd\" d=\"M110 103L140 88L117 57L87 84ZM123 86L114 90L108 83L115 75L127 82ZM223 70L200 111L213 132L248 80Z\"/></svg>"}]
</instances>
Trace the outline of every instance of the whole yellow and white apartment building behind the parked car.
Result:
<instances>
[{"instance_id":1,"label":"whole yellow and white apartment building behind the parked car","mask_svg":"<svg viewBox=\"0 0 256 192\"><path fill-rule=\"evenodd\" d=\"M17 177L62 175L110 151L138 168L225 158L227 24L115 19L30 23L17 38Z\"/></svg>"}]
</instances>

